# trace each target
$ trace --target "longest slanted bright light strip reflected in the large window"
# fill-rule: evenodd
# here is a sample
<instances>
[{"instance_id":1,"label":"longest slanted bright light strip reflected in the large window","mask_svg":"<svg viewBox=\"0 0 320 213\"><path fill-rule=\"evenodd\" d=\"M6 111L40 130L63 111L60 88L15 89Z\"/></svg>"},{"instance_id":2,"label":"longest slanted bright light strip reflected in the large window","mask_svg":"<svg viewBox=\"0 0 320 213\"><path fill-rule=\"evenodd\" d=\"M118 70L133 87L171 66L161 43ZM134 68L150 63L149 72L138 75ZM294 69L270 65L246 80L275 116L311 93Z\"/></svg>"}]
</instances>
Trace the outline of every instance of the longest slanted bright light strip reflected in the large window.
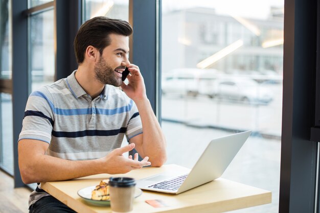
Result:
<instances>
[{"instance_id":1,"label":"longest slanted bright light strip reflected in the large window","mask_svg":"<svg viewBox=\"0 0 320 213\"><path fill-rule=\"evenodd\" d=\"M216 61L220 60L221 58L227 56L228 54L234 52L238 48L240 48L243 45L243 41L241 39L237 40L236 42L226 46L219 52L213 54L212 56L209 56L208 58L204 59L203 61L200 61L197 63L197 67L204 69L207 68L208 66L212 65Z\"/></svg>"}]
</instances>

